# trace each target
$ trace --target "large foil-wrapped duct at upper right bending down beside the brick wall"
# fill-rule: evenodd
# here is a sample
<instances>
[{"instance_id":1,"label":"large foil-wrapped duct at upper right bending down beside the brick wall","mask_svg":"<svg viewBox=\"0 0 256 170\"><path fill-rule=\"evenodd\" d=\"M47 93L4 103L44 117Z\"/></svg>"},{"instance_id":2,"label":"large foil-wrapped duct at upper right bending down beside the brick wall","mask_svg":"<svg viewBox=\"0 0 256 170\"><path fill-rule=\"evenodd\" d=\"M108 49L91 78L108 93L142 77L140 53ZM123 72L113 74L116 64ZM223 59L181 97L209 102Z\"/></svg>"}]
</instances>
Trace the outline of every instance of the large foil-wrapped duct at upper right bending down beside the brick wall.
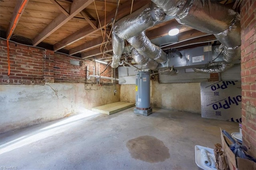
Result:
<instances>
[{"instance_id":1,"label":"large foil-wrapped duct at upper right bending down beside the brick wall","mask_svg":"<svg viewBox=\"0 0 256 170\"><path fill-rule=\"evenodd\" d=\"M232 9L211 0L152 0L168 15L175 16L183 25L201 32L214 34L224 45L223 59L230 63L241 57L240 15ZM183 2L183 3L182 3ZM172 12L173 10L173 12ZM205 73L219 73L231 64L195 69Z\"/></svg>"}]
</instances>

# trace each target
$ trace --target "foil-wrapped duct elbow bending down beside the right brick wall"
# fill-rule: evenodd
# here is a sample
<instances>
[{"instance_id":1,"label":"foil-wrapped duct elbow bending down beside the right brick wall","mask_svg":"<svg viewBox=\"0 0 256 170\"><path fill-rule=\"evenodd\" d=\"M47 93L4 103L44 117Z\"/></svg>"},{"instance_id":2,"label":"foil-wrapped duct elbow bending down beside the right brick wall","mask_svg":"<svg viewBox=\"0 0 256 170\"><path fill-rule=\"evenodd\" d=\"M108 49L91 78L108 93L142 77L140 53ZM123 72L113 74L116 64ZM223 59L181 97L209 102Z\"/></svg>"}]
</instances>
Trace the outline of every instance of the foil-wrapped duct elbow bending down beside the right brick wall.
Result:
<instances>
[{"instance_id":1,"label":"foil-wrapped duct elbow bending down beside the right brick wall","mask_svg":"<svg viewBox=\"0 0 256 170\"><path fill-rule=\"evenodd\" d=\"M240 15L237 13L232 24L224 32L214 34L214 36L226 47L236 47L241 45Z\"/></svg>"}]
</instances>

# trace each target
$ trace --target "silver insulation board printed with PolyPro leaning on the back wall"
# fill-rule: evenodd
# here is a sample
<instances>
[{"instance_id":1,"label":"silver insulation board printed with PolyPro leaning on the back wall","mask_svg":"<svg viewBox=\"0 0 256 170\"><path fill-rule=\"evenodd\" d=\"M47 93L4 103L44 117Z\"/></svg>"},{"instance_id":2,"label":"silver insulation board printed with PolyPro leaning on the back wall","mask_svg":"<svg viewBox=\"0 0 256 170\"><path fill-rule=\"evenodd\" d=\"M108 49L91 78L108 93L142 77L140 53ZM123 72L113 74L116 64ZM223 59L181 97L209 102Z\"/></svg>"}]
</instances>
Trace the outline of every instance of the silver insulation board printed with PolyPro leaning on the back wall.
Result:
<instances>
[{"instance_id":1,"label":"silver insulation board printed with PolyPro leaning on the back wall","mask_svg":"<svg viewBox=\"0 0 256 170\"><path fill-rule=\"evenodd\" d=\"M201 82L202 117L242 122L241 81Z\"/></svg>"}]
</instances>

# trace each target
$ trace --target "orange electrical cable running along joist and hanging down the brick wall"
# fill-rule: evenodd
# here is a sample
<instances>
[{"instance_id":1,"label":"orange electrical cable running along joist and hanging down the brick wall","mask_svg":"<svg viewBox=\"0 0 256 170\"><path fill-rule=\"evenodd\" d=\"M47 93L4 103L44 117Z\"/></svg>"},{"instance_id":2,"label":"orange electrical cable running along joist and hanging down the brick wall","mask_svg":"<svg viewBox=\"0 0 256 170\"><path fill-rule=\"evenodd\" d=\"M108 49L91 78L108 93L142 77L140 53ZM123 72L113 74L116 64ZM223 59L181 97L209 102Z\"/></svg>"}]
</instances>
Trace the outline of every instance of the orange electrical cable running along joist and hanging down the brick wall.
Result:
<instances>
[{"instance_id":1,"label":"orange electrical cable running along joist and hanging down the brick wall","mask_svg":"<svg viewBox=\"0 0 256 170\"><path fill-rule=\"evenodd\" d=\"M16 17L15 17L15 19L14 19L14 23L13 23L13 25L12 25L12 28L10 29L10 33L9 33L9 35L7 36L7 41L6 41L6 45L7 45L7 56L8 56L8 76L10 75L10 49L9 49L9 40L10 40L10 37L12 36L12 33L13 33L13 31L14 31L14 28L16 27L16 25L17 25L17 22L18 22L18 19L20 18L20 15L21 15L21 13L22 13L22 10L23 10L23 8L24 8L24 6L26 5L26 3L27 3L27 1L28 0L24 0L23 2L22 2L22 4L21 4L21 6L20 6L20 9L19 9L19 11L18 11L18 14L16 15Z\"/></svg>"}]
</instances>

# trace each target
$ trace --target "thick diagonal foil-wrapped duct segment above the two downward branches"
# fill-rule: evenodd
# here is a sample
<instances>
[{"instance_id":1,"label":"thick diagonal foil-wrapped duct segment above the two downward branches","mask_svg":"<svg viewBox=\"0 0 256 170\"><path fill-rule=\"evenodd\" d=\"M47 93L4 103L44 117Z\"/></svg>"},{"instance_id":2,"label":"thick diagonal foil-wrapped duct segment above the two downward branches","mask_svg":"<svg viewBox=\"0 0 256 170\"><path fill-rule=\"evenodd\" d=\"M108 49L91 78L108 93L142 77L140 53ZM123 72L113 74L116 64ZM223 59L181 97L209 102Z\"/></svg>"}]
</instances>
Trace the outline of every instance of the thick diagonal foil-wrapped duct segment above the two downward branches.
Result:
<instances>
[{"instance_id":1,"label":"thick diagonal foil-wrapped duct segment above the two downward branches","mask_svg":"<svg viewBox=\"0 0 256 170\"><path fill-rule=\"evenodd\" d=\"M128 39L151 28L157 21L164 21L166 14L162 8L150 4L136 12L122 18L114 24L116 35L121 39Z\"/></svg>"}]
</instances>

